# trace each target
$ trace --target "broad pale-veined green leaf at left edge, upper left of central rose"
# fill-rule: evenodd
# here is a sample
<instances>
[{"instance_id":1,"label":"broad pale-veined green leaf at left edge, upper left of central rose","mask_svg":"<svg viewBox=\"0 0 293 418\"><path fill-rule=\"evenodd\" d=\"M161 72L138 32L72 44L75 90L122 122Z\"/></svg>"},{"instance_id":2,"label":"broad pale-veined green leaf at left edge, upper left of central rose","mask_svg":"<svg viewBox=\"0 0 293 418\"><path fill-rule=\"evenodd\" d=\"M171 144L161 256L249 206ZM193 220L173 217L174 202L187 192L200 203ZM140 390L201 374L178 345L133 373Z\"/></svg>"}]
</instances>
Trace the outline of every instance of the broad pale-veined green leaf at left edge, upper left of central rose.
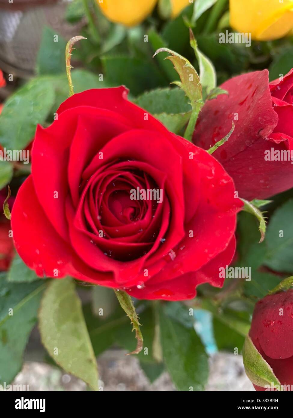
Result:
<instances>
[{"instance_id":1,"label":"broad pale-veined green leaf at left edge, upper left of central rose","mask_svg":"<svg viewBox=\"0 0 293 418\"><path fill-rule=\"evenodd\" d=\"M13 93L0 115L0 144L13 150L25 148L33 139L36 125L45 122L54 100L54 88L45 80L40 83L33 79Z\"/></svg>"}]
</instances>

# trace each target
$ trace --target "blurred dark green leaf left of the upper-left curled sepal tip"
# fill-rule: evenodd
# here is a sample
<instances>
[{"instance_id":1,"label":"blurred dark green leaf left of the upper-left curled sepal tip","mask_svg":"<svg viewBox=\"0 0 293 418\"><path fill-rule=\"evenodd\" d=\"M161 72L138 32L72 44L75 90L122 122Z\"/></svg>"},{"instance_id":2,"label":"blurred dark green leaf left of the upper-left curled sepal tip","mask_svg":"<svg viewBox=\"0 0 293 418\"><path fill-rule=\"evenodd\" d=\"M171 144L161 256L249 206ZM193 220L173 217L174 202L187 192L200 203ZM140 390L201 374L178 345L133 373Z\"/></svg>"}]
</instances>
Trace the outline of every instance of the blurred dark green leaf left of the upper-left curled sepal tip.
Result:
<instances>
[{"instance_id":1,"label":"blurred dark green leaf left of the upper-left curled sepal tip","mask_svg":"<svg viewBox=\"0 0 293 418\"><path fill-rule=\"evenodd\" d=\"M37 73L61 74L65 72L66 41L54 29L45 26L37 56Z\"/></svg>"}]
</instances>

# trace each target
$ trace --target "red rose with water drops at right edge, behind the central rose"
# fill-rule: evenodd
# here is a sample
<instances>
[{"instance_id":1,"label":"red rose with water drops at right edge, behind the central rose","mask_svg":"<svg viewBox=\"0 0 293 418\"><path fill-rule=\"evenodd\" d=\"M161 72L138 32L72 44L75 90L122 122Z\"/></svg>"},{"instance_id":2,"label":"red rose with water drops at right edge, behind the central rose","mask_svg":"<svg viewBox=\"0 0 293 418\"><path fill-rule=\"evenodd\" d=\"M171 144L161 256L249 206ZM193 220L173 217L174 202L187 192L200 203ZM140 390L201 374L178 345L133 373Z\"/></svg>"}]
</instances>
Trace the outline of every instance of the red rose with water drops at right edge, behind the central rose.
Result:
<instances>
[{"instance_id":1,"label":"red rose with water drops at right edge, behind the central rose","mask_svg":"<svg viewBox=\"0 0 293 418\"><path fill-rule=\"evenodd\" d=\"M265 199L293 187L291 161L265 160L272 148L277 153L293 148L293 70L283 81L269 84L268 70L263 70L234 77L221 87L229 96L205 103L194 143L210 148L234 120L234 132L213 155L232 176L239 196Z\"/></svg>"}]
</instances>

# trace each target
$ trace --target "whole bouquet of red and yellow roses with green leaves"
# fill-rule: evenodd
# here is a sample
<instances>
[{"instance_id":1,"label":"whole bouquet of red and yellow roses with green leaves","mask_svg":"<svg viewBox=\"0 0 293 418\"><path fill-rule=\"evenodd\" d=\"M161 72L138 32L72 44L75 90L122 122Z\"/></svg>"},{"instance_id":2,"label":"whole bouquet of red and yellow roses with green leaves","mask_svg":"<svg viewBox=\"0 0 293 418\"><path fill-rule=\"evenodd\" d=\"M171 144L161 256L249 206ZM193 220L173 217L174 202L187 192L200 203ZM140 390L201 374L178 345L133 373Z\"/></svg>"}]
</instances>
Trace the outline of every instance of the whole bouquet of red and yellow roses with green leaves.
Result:
<instances>
[{"instance_id":1,"label":"whole bouquet of red and yellow roses with green leaves","mask_svg":"<svg viewBox=\"0 0 293 418\"><path fill-rule=\"evenodd\" d=\"M293 384L293 12L267 3L74 0L82 35L44 28L0 116L1 382L38 324L93 390L113 345L204 390L207 332Z\"/></svg>"}]
</instances>

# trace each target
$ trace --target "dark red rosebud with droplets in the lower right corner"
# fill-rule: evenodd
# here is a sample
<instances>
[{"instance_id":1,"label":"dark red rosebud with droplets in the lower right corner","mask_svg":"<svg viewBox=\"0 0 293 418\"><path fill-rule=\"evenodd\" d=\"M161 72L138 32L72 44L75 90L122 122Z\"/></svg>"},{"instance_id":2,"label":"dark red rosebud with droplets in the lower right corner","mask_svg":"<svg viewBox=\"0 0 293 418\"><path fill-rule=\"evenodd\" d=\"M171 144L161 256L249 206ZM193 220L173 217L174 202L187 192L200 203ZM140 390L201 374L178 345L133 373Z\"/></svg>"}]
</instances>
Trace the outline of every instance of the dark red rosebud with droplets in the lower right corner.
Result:
<instances>
[{"instance_id":1,"label":"dark red rosebud with droplets in the lower right corner","mask_svg":"<svg viewBox=\"0 0 293 418\"><path fill-rule=\"evenodd\" d=\"M292 330L293 290L268 295L257 302L249 335L281 385L293 385Z\"/></svg>"}]
</instances>

